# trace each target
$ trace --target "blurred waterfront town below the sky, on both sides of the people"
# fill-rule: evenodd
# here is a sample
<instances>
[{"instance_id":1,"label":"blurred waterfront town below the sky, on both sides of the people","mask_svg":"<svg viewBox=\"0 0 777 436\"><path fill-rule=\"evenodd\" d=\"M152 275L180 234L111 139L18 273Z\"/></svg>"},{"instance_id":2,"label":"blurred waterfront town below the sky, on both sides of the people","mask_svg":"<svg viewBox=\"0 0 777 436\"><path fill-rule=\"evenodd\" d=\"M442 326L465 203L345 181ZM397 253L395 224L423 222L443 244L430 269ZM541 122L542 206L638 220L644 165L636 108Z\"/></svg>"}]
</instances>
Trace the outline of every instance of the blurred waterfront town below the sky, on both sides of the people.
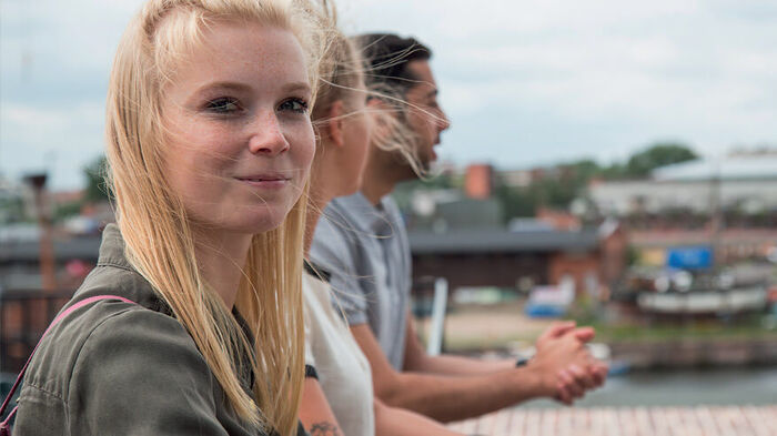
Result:
<instances>
[{"instance_id":1,"label":"blurred waterfront town below the sky, on both sides of the people","mask_svg":"<svg viewBox=\"0 0 777 436\"><path fill-rule=\"evenodd\" d=\"M572 318L596 327L592 349L613 375L760 371L769 382L741 400L770 402L777 150L712 160L660 143L609 165L440 166L394 194L430 352L531 356L549 322ZM103 173L98 158L84 187L64 192L44 173L0 179L3 373L19 369L94 266L101 230L114 221ZM623 396L640 398L626 386Z\"/></svg>"}]
</instances>

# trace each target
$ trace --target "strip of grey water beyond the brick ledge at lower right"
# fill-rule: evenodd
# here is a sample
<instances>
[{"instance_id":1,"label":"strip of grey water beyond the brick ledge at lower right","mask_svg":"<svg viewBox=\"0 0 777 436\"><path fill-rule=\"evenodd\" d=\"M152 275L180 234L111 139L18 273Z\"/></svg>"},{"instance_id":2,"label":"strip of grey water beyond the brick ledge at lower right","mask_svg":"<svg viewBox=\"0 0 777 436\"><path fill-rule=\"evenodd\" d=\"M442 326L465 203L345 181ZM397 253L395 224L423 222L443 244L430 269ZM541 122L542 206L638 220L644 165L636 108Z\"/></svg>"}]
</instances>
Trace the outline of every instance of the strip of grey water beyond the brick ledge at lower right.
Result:
<instances>
[{"instance_id":1,"label":"strip of grey water beyond the brick ledge at lower right","mask_svg":"<svg viewBox=\"0 0 777 436\"><path fill-rule=\"evenodd\" d=\"M577 407L777 404L777 367L632 373L610 377ZM525 407L563 407L548 399Z\"/></svg>"}]
</instances>

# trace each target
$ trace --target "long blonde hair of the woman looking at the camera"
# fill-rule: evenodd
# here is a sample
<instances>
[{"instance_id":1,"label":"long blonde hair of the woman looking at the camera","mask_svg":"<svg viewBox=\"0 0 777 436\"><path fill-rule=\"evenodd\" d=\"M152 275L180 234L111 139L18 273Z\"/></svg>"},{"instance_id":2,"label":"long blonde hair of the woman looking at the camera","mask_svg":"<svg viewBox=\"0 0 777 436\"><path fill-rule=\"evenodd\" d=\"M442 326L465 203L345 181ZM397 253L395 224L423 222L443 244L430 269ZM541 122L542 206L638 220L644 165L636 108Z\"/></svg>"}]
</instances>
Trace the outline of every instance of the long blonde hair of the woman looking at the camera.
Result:
<instances>
[{"instance_id":1,"label":"long blonde hair of the woman looking at the camera","mask_svg":"<svg viewBox=\"0 0 777 436\"><path fill-rule=\"evenodd\" d=\"M281 226L252 239L235 302L255 337L250 344L200 275L186 212L164 176L165 80L202 42L202 30L222 18L291 30L315 88L326 31L305 0L150 0L124 32L111 72L108 178L129 261L192 336L228 404L248 423L291 435L304 375L300 287L307 187ZM253 396L241 387L234 364L243 356L255 374Z\"/></svg>"}]
</instances>

